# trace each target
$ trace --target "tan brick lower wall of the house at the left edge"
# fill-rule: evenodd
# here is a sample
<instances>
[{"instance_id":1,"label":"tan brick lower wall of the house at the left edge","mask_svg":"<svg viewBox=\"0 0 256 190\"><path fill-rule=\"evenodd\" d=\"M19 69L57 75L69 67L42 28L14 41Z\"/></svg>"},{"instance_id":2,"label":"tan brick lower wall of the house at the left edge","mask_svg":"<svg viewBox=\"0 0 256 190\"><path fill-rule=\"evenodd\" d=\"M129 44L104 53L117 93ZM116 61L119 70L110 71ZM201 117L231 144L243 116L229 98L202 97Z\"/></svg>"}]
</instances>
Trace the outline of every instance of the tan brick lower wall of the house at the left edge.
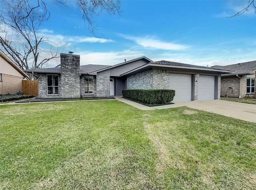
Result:
<instances>
[{"instance_id":1,"label":"tan brick lower wall of the house at the left edge","mask_svg":"<svg viewBox=\"0 0 256 190\"><path fill-rule=\"evenodd\" d=\"M22 90L21 76L12 76L9 74L2 74L0 80L0 94L17 94L19 90Z\"/></svg>"}]
</instances>

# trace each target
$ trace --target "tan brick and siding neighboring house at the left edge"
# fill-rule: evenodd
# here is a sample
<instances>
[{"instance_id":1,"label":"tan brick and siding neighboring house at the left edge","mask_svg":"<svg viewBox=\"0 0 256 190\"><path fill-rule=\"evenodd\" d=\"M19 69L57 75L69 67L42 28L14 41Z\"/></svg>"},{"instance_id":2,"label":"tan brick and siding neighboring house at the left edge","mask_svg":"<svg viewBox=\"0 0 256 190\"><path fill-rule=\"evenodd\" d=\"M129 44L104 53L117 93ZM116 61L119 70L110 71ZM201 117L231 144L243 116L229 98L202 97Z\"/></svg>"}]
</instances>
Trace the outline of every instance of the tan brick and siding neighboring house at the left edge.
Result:
<instances>
[{"instance_id":1,"label":"tan brick and siding neighboring house at the left edge","mask_svg":"<svg viewBox=\"0 0 256 190\"><path fill-rule=\"evenodd\" d=\"M0 50L0 94L17 94L22 80L29 76Z\"/></svg>"}]
</instances>

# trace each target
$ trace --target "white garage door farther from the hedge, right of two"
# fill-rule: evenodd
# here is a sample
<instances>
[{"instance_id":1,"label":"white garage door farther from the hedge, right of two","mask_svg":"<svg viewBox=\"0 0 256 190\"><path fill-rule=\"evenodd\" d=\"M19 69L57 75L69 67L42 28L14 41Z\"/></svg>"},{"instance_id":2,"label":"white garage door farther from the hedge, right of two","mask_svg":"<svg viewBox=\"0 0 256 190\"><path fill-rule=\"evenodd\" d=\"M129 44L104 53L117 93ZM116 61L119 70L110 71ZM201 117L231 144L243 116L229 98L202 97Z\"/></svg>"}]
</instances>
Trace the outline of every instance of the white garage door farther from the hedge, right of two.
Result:
<instances>
[{"instance_id":1,"label":"white garage door farther from the hedge, right of two","mask_svg":"<svg viewBox=\"0 0 256 190\"><path fill-rule=\"evenodd\" d=\"M200 75L198 78L198 100L214 100L214 76Z\"/></svg>"}]
</instances>

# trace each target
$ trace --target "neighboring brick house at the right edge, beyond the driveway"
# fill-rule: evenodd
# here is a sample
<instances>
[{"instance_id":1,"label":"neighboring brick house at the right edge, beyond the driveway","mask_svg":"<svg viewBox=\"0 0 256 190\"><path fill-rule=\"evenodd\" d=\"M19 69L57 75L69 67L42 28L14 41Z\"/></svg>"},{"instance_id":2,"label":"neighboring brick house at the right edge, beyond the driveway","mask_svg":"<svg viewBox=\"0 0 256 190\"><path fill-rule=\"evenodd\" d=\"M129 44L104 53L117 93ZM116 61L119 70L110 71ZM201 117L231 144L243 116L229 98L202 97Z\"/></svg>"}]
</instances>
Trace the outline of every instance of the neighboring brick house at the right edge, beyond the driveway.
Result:
<instances>
[{"instance_id":1,"label":"neighboring brick house at the right edge, beyond the driveway","mask_svg":"<svg viewBox=\"0 0 256 190\"><path fill-rule=\"evenodd\" d=\"M233 72L221 75L220 96L236 98L255 96L256 61L226 66L216 65L212 68Z\"/></svg>"}]
</instances>

